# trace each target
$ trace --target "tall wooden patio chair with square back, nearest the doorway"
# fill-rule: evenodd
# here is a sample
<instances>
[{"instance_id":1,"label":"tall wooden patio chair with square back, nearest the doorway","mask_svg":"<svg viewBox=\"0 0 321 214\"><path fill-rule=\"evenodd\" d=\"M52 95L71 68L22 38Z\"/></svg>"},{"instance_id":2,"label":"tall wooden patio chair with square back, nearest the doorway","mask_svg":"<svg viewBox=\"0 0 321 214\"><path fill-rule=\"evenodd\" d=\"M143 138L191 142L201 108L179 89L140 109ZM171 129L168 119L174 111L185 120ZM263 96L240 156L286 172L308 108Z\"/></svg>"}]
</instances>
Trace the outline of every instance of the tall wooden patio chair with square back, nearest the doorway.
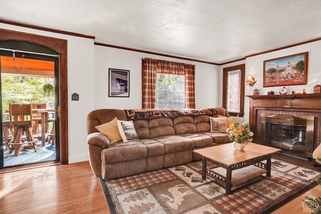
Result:
<instances>
[{"instance_id":1,"label":"tall wooden patio chair with square back, nearest the doorway","mask_svg":"<svg viewBox=\"0 0 321 214\"><path fill-rule=\"evenodd\" d=\"M15 150L15 156L24 149L35 149L38 152L37 141L31 131L33 125L32 104L9 105L10 128L14 129L14 139L9 142L11 154ZM25 133L25 136L23 134Z\"/></svg>"}]
</instances>

